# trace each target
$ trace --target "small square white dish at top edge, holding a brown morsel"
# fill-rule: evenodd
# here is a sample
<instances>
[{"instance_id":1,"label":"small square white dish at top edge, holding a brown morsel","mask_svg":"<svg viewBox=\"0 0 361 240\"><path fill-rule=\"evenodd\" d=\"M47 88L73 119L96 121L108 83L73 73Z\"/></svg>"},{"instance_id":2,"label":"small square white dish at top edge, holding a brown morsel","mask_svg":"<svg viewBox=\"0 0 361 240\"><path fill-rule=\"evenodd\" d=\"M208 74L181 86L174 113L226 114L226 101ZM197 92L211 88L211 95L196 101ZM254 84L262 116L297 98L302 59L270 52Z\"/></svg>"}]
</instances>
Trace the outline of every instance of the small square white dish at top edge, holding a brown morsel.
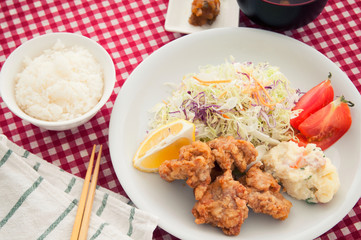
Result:
<instances>
[{"instance_id":1,"label":"small square white dish at top edge, holding a brown morsel","mask_svg":"<svg viewBox=\"0 0 361 240\"><path fill-rule=\"evenodd\" d=\"M220 12L213 24L193 26L188 23L193 0L169 0L164 28L170 32L193 33L211 28L238 27L239 6L236 0L220 0Z\"/></svg>"}]
</instances>

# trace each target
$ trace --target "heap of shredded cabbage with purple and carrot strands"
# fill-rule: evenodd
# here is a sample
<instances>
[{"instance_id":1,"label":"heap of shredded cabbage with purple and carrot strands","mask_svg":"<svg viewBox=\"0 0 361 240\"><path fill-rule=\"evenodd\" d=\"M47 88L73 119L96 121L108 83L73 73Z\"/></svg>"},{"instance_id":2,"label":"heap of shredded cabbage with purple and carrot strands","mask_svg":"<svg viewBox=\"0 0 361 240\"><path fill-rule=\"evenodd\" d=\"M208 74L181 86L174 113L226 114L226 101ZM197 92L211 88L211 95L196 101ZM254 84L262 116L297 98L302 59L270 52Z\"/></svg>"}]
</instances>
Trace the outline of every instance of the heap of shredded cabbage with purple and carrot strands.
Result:
<instances>
[{"instance_id":1,"label":"heap of shredded cabbage with purple and carrot strands","mask_svg":"<svg viewBox=\"0 0 361 240\"><path fill-rule=\"evenodd\" d=\"M293 138L290 119L297 114L292 108L299 97L278 67L231 58L186 75L170 97L150 110L150 127L185 119L195 124L196 140L232 135L270 147Z\"/></svg>"}]
</instances>

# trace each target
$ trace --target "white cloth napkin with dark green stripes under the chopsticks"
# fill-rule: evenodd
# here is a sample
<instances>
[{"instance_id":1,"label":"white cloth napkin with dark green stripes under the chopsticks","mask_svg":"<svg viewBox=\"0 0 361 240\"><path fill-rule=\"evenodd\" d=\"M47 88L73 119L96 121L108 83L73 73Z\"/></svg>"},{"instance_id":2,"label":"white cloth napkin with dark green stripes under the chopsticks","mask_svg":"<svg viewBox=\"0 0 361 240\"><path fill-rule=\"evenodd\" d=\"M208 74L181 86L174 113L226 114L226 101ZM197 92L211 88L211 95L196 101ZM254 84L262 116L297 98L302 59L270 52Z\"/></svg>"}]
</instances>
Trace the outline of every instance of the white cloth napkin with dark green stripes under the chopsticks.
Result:
<instances>
[{"instance_id":1,"label":"white cloth napkin with dark green stripes under the chopsticks","mask_svg":"<svg viewBox=\"0 0 361 240\"><path fill-rule=\"evenodd\" d=\"M0 134L0 239L70 239L83 179ZM88 239L152 239L157 217L98 187Z\"/></svg>"}]
</instances>

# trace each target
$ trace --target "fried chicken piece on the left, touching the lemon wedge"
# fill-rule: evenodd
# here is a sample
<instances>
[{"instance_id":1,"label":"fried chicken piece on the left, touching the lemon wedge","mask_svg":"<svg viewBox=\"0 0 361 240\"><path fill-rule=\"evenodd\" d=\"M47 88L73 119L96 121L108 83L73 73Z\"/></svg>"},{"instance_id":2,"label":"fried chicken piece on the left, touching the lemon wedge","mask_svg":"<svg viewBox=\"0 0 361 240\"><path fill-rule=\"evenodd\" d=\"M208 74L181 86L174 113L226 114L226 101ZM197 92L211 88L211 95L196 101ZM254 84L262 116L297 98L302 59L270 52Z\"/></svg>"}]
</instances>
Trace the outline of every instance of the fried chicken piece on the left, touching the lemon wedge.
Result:
<instances>
[{"instance_id":1,"label":"fried chicken piece on the left, touching the lemon wedge","mask_svg":"<svg viewBox=\"0 0 361 240\"><path fill-rule=\"evenodd\" d=\"M203 196L211 182L214 157L206 143L195 141L180 149L178 159L164 161L159 166L159 175L168 182L176 179L186 180L194 188L196 200Z\"/></svg>"}]
</instances>

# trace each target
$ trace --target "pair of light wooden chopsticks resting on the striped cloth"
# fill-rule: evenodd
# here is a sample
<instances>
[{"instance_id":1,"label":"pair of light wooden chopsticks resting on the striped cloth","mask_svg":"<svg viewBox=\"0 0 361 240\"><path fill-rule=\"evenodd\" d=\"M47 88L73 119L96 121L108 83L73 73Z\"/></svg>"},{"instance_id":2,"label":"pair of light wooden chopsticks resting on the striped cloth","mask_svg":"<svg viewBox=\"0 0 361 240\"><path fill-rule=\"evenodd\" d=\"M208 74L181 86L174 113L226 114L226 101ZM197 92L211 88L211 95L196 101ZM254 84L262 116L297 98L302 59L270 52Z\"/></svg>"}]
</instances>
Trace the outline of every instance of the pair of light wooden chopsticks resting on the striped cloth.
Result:
<instances>
[{"instance_id":1,"label":"pair of light wooden chopsticks resting on the striped cloth","mask_svg":"<svg viewBox=\"0 0 361 240\"><path fill-rule=\"evenodd\" d=\"M95 189L98 181L100 156L102 153L103 146L100 145L97 161L95 163L94 173L92 175L95 148L96 145L93 146L93 151L90 156L88 170L86 172L84 179L83 190L79 200L78 211L76 213L76 217L73 225L71 240L85 240L88 234L90 215L93 207Z\"/></svg>"}]
</instances>

